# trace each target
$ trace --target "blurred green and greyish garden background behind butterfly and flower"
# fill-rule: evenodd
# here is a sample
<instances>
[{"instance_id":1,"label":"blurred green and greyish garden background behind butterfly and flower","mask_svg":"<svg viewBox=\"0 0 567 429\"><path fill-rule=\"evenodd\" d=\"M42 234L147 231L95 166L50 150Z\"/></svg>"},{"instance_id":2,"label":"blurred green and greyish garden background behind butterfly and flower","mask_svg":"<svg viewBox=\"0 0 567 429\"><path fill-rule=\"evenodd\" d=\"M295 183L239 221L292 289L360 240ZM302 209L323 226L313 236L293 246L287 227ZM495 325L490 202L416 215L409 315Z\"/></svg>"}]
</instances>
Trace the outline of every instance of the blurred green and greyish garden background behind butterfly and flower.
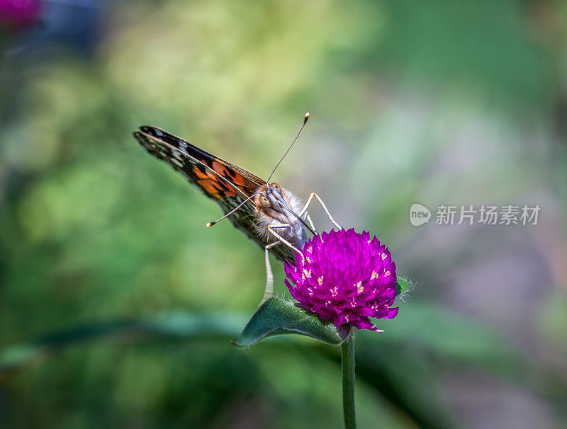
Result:
<instances>
[{"instance_id":1,"label":"blurred green and greyish garden background behind butterfly and flower","mask_svg":"<svg viewBox=\"0 0 567 429\"><path fill-rule=\"evenodd\" d=\"M339 350L230 344L262 251L130 135L265 178L306 111L276 181L417 284L357 336L359 427L566 427L564 1L3 0L0 25L2 428L342 427ZM412 227L414 202L541 212Z\"/></svg>"}]
</instances>

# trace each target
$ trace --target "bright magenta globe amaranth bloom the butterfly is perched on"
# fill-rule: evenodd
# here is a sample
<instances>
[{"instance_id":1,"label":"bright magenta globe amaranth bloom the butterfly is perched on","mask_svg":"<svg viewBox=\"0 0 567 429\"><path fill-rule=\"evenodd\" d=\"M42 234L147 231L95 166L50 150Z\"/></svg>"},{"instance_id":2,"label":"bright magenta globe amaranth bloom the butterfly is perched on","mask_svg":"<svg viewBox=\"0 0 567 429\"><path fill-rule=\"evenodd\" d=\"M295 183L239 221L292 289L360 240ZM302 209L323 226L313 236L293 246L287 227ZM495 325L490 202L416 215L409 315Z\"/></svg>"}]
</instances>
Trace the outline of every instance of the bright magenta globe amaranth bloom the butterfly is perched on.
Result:
<instances>
[{"instance_id":1,"label":"bright magenta globe amaranth bloom the butterfly is perched on","mask_svg":"<svg viewBox=\"0 0 567 429\"><path fill-rule=\"evenodd\" d=\"M369 317L392 319L395 264L380 241L354 229L313 236L296 253L296 266L286 261L291 296L321 319L378 331Z\"/></svg>"}]
</instances>

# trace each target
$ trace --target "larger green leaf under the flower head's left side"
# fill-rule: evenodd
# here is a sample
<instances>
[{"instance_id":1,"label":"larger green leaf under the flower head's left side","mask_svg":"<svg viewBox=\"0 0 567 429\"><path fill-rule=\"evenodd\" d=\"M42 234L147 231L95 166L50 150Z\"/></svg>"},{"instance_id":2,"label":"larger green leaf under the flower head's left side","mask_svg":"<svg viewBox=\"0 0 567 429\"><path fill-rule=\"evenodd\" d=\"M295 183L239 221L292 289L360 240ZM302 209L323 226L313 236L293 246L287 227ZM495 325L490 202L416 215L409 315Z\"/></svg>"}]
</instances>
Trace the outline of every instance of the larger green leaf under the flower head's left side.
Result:
<instances>
[{"instance_id":1,"label":"larger green leaf under the flower head's left side","mask_svg":"<svg viewBox=\"0 0 567 429\"><path fill-rule=\"evenodd\" d=\"M252 316L235 345L244 347L283 333L310 336L331 345L339 345L348 336L348 332L339 334L335 325L323 323L317 316L293 303L272 297Z\"/></svg>"}]
</instances>

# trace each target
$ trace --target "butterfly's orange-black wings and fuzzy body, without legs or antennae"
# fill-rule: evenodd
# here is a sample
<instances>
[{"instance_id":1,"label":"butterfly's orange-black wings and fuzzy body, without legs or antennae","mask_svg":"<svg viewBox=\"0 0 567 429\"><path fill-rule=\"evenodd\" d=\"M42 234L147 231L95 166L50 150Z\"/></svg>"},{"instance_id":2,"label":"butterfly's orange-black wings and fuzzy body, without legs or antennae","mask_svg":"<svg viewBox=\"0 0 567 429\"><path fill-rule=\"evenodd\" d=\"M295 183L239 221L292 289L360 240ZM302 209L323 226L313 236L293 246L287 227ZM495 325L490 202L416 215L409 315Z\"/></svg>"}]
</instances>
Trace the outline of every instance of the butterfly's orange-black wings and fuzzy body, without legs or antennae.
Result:
<instances>
[{"instance_id":1,"label":"butterfly's orange-black wings and fuzzy body, without legs or antennae","mask_svg":"<svg viewBox=\"0 0 567 429\"><path fill-rule=\"evenodd\" d=\"M157 127L140 127L133 136L150 155L164 161L203 195L215 200L224 214L237 209L228 219L262 248L274 241L269 225L279 229L296 246L302 246L307 239L303 222L297 216L301 203L288 190L275 183L268 184ZM269 251L281 261L293 261L293 251L288 246L271 246Z\"/></svg>"}]
</instances>

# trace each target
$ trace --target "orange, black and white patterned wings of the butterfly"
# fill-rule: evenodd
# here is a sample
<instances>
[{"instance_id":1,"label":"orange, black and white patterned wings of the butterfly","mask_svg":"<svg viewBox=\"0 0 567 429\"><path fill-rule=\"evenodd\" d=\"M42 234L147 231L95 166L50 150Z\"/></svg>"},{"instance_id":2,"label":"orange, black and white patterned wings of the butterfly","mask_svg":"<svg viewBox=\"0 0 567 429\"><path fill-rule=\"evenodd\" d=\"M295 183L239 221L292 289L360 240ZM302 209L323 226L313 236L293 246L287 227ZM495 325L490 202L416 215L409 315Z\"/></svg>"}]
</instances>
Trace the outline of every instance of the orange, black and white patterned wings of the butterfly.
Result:
<instances>
[{"instance_id":1,"label":"orange, black and white patterned wings of the butterfly","mask_svg":"<svg viewBox=\"0 0 567 429\"><path fill-rule=\"evenodd\" d=\"M266 183L252 173L157 127L140 127L133 136L150 155L164 161L203 195L215 200L224 214L234 210ZM267 244L257 233L257 209L251 200L230 214L228 219L260 247L264 248ZM271 252L281 261L293 261L293 253L287 246L274 246Z\"/></svg>"}]
</instances>

